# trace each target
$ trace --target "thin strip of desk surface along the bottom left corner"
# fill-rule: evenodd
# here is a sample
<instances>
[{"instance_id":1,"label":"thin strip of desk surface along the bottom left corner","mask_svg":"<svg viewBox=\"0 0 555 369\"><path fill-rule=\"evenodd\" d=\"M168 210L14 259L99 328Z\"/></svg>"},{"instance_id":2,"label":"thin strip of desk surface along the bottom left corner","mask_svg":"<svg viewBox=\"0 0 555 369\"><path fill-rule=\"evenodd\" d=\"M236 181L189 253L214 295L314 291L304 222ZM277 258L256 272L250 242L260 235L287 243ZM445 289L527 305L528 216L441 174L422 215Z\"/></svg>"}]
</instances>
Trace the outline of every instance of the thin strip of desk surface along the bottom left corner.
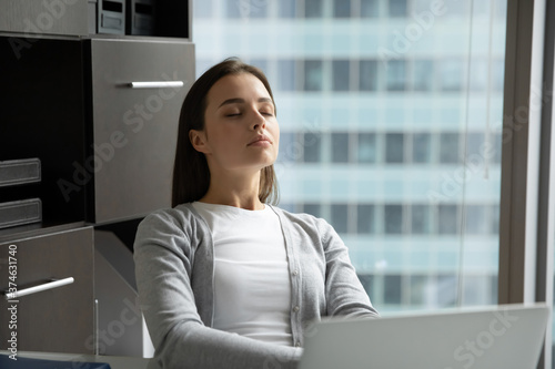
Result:
<instances>
[{"instance_id":1,"label":"thin strip of desk surface along the bottom left corner","mask_svg":"<svg viewBox=\"0 0 555 369\"><path fill-rule=\"evenodd\" d=\"M10 355L8 351L0 351L2 355ZM79 361L79 362L108 362L111 369L147 369L149 359L137 357L120 357L120 356L100 356L100 355L82 355L82 353L56 353L56 352L31 352L19 351L18 358L43 359L43 360L60 360L60 361Z\"/></svg>"}]
</instances>

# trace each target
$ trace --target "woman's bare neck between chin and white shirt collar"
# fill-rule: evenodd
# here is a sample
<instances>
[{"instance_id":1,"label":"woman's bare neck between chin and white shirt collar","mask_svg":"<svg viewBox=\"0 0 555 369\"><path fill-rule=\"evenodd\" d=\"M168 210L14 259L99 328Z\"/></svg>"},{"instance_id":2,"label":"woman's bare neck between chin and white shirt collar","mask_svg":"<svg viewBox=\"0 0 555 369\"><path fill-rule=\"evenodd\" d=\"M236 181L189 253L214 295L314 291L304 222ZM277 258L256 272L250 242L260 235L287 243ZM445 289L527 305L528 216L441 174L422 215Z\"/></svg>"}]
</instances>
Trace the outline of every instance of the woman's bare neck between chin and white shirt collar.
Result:
<instances>
[{"instance_id":1,"label":"woman's bare neck between chin and white shirt collar","mask_svg":"<svg viewBox=\"0 0 555 369\"><path fill-rule=\"evenodd\" d=\"M259 191L260 171L252 175L216 172L211 174L209 189L200 201L259 211L264 208L259 198Z\"/></svg>"}]
</instances>

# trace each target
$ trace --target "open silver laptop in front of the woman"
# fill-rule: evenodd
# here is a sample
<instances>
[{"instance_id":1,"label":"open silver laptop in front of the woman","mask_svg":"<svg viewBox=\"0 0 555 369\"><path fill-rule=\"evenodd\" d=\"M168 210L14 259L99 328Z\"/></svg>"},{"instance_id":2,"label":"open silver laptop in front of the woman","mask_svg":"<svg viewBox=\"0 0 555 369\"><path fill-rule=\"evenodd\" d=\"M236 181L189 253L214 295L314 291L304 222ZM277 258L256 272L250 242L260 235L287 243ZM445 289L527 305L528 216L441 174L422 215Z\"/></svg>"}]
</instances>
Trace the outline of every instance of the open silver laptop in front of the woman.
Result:
<instances>
[{"instance_id":1,"label":"open silver laptop in front of the woman","mask_svg":"<svg viewBox=\"0 0 555 369\"><path fill-rule=\"evenodd\" d=\"M533 304L324 319L307 330L299 368L533 369L549 314Z\"/></svg>"}]
</instances>

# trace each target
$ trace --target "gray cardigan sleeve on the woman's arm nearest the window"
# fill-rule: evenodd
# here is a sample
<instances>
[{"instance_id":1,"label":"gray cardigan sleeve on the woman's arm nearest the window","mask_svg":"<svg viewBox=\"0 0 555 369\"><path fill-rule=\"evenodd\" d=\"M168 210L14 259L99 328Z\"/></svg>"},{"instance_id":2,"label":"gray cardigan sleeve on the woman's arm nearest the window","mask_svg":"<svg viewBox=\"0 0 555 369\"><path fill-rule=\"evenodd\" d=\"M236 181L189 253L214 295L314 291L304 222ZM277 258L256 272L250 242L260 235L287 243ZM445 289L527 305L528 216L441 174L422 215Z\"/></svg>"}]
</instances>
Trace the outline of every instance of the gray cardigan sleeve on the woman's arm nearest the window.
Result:
<instances>
[{"instance_id":1,"label":"gray cardigan sleeve on the woman's arm nearest the window","mask_svg":"<svg viewBox=\"0 0 555 369\"><path fill-rule=\"evenodd\" d=\"M325 256L327 316L379 317L356 276L349 249L335 229L327 222L319 219L319 233Z\"/></svg>"}]
</instances>

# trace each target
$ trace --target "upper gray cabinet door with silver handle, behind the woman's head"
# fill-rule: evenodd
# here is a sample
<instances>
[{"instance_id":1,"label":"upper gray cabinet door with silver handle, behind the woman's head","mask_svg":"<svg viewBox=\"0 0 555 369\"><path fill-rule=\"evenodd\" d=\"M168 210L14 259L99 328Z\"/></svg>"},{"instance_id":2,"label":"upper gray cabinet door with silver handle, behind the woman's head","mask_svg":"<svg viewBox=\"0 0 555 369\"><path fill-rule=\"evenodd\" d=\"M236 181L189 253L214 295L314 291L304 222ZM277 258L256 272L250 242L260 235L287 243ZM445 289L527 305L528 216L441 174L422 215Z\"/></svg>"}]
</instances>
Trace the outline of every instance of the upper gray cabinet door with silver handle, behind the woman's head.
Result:
<instances>
[{"instance_id":1,"label":"upper gray cabinet door with silver handle, behind the woman's head","mask_svg":"<svg viewBox=\"0 0 555 369\"><path fill-rule=\"evenodd\" d=\"M179 114L194 80L194 45L90 43L93 133L84 163L94 172L90 219L113 222L170 206Z\"/></svg>"}]
</instances>

